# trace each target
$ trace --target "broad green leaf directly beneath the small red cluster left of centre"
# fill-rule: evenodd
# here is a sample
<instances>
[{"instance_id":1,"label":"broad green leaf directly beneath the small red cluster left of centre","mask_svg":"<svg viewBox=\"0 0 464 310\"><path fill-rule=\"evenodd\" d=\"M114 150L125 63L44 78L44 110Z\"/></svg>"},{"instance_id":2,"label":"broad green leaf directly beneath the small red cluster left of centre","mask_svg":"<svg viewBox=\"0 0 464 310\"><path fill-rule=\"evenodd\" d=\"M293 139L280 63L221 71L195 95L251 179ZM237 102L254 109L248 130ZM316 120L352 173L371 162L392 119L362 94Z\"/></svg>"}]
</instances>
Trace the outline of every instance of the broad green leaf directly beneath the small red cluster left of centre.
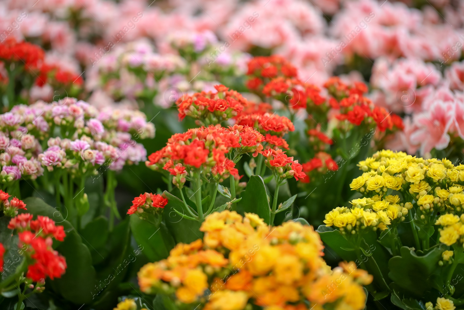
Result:
<instances>
[{"instance_id":1,"label":"broad green leaf directly beneath the small red cluster left of centre","mask_svg":"<svg viewBox=\"0 0 464 310\"><path fill-rule=\"evenodd\" d=\"M140 219L136 214L130 216L130 229L137 244L142 245L143 254L150 262L157 262L169 256L175 242L165 224L160 227Z\"/></svg>"}]
</instances>

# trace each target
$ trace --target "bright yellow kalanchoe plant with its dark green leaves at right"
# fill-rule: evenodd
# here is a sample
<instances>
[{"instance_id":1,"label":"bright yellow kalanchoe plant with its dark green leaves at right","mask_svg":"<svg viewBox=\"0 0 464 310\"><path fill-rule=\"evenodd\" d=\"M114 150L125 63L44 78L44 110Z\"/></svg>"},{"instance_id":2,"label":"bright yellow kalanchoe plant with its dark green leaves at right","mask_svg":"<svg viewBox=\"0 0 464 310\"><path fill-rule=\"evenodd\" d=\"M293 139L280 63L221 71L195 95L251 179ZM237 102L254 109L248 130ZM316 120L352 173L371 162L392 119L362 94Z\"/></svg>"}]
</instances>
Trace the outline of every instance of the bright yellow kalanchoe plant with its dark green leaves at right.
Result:
<instances>
[{"instance_id":1,"label":"bright yellow kalanchoe plant with its dark green leaves at right","mask_svg":"<svg viewBox=\"0 0 464 310\"><path fill-rule=\"evenodd\" d=\"M383 150L358 166L363 173L350 187L364 197L326 215L322 240L342 258L356 257L374 274L368 290L402 309L414 299L436 301L435 309L463 305L456 278L464 264L464 165Z\"/></svg>"}]
</instances>

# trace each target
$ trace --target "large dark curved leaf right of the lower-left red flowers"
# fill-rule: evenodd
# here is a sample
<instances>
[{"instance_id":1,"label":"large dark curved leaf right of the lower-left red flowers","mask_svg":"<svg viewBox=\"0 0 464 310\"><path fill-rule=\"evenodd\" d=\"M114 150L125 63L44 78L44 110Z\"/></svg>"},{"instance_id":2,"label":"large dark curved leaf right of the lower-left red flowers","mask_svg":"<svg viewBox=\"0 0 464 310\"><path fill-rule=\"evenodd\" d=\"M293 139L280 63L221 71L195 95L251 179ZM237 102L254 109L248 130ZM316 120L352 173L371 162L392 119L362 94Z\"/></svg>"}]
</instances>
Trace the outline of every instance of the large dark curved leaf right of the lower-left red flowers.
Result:
<instances>
[{"instance_id":1,"label":"large dark curved leaf right of the lower-left red flowers","mask_svg":"<svg viewBox=\"0 0 464 310\"><path fill-rule=\"evenodd\" d=\"M73 303L91 303L96 273L90 251L79 233L74 229L67 232L57 250L66 258L67 268L61 278L50 281L53 289Z\"/></svg>"}]
</instances>

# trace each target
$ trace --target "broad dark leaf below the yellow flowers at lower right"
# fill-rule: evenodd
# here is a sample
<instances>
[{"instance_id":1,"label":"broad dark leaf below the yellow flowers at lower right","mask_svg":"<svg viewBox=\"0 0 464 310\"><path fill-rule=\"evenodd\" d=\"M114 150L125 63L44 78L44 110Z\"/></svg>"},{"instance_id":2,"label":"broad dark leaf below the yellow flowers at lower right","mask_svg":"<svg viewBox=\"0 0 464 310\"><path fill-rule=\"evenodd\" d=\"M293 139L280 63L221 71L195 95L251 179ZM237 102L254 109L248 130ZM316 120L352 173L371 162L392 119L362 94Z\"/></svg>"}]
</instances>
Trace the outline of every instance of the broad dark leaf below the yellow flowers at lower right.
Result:
<instances>
[{"instance_id":1,"label":"broad dark leaf below the yellow flowers at lower right","mask_svg":"<svg viewBox=\"0 0 464 310\"><path fill-rule=\"evenodd\" d=\"M401 256L390 259L388 276L398 287L417 297L432 288L429 278L435 272L441 259L441 249L433 248L423 256L418 256L412 248L403 246Z\"/></svg>"}]
</instances>

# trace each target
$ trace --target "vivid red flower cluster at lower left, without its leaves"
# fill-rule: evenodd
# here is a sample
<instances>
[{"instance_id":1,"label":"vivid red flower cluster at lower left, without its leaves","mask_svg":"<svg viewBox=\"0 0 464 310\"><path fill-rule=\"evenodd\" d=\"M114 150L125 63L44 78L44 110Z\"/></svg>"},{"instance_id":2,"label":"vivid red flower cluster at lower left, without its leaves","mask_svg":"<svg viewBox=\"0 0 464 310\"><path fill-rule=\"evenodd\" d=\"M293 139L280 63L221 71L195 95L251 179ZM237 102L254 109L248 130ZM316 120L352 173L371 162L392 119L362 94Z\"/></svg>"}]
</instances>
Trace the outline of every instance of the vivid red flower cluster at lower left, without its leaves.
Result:
<instances>
[{"instance_id":1,"label":"vivid red flower cluster at lower left, without its leaves","mask_svg":"<svg viewBox=\"0 0 464 310\"><path fill-rule=\"evenodd\" d=\"M63 241L66 234L63 226L56 226L55 222L45 216L37 216L32 220L32 215L22 213L12 218L8 229L14 229L19 235L19 247L27 246L25 256L30 264L26 277L37 282L59 278L66 270L66 261L63 256L52 249L52 237Z\"/></svg>"}]
</instances>

